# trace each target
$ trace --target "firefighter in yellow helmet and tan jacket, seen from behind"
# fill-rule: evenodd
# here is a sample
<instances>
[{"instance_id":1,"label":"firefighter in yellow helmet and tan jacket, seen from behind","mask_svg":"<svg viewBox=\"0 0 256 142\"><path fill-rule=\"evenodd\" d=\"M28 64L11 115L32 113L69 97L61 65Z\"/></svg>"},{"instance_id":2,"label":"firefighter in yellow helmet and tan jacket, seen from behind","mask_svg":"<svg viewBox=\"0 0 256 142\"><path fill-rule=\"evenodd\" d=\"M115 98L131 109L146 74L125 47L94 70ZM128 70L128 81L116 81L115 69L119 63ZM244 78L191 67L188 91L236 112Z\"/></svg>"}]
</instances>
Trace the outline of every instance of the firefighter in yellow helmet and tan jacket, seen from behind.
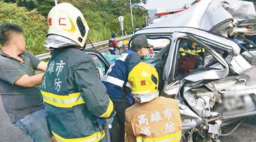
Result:
<instances>
[{"instance_id":1,"label":"firefighter in yellow helmet and tan jacket, seen from behind","mask_svg":"<svg viewBox=\"0 0 256 142\"><path fill-rule=\"evenodd\" d=\"M125 111L126 141L180 141L178 102L158 97L156 70L141 62L131 70L128 80L138 102Z\"/></svg>"}]
</instances>

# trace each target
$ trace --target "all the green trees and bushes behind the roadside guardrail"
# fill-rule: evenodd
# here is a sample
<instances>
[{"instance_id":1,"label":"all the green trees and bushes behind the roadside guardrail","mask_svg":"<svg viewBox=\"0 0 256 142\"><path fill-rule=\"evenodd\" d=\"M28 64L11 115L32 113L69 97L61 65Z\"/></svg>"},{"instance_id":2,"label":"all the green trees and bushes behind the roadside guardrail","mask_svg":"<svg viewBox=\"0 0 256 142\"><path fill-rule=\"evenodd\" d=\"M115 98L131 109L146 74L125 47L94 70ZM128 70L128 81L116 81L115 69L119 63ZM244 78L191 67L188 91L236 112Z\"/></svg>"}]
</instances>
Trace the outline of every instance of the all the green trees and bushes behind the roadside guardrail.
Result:
<instances>
[{"instance_id":1,"label":"all the green trees and bushes behind the roadside guardrail","mask_svg":"<svg viewBox=\"0 0 256 142\"><path fill-rule=\"evenodd\" d=\"M47 15L55 5L54 0L0 0L0 24L17 23L26 32L27 49L34 54L45 52L42 48L47 34ZM5 2L5 3L3 3ZM131 34L130 1L129 0L59 0L58 3L69 2L81 10L90 30L88 37L92 42L108 40L112 32L121 36L118 16L123 15L126 34ZM143 27L147 10L140 6L147 0L132 0L134 28ZM18 7L18 8L17 8ZM89 43L89 41L86 41Z\"/></svg>"}]
</instances>

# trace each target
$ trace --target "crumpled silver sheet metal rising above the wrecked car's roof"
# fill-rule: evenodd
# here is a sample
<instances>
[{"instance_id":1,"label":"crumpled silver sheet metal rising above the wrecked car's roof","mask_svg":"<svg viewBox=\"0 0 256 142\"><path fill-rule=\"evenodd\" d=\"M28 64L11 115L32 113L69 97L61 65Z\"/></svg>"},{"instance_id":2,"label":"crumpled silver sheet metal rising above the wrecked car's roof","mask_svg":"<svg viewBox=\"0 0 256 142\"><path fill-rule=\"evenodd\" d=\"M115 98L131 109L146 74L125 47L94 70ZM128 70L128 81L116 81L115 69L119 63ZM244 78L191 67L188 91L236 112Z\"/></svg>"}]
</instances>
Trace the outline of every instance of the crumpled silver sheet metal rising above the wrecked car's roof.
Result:
<instances>
[{"instance_id":1,"label":"crumpled silver sheet metal rising above the wrecked car's roof","mask_svg":"<svg viewBox=\"0 0 256 142\"><path fill-rule=\"evenodd\" d=\"M204 0L185 11L168 15L167 18L151 24L146 28L193 27L212 31L219 26L225 26L221 29L228 28L234 19L254 19L255 16L255 7L252 2Z\"/></svg>"}]
</instances>

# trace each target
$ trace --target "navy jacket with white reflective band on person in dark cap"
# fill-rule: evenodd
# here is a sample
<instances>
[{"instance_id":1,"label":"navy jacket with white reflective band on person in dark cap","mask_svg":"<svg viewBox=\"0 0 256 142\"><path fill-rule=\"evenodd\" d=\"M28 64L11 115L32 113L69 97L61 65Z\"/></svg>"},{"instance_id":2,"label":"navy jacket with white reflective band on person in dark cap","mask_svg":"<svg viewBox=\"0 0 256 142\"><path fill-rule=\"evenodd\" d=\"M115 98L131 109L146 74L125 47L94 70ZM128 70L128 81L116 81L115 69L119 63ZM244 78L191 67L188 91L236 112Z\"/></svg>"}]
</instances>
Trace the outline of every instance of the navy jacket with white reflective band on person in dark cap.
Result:
<instances>
[{"instance_id":1,"label":"navy jacket with white reflective band on person in dark cap","mask_svg":"<svg viewBox=\"0 0 256 142\"><path fill-rule=\"evenodd\" d=\"M126 99L129 105L133 103L130 88L127 87L127 77L131 69L141 62L141 56L133 50L123 53L110 66L105 76L104 85L108 90L110 98L114 101Z\"/></svg>"}]
</instances>

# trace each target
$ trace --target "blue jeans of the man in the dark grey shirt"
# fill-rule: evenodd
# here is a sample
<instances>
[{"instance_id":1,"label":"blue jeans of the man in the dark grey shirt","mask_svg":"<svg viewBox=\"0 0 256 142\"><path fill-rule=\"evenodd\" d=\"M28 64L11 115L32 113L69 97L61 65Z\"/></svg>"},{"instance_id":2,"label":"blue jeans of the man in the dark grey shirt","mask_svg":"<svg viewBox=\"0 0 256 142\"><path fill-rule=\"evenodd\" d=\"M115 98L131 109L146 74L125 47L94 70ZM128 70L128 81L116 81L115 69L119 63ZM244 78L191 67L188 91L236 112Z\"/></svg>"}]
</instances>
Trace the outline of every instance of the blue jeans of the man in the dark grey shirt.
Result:
<instances>
[{"instance_id":1,"label":"blue jeans of the man in the dark grey shirt","mask_svg":"<svg viewBox=\"0 0 256 142\"><path fill-rule=\"evenodd\" d=\"M18 127L26 135L30 136L35 142L48 142L51 141L49 125L47 123L46 110L32 112L23 118L16 118L16 123L13 123L15 127Z\"/></svg>"}]
</instances>

